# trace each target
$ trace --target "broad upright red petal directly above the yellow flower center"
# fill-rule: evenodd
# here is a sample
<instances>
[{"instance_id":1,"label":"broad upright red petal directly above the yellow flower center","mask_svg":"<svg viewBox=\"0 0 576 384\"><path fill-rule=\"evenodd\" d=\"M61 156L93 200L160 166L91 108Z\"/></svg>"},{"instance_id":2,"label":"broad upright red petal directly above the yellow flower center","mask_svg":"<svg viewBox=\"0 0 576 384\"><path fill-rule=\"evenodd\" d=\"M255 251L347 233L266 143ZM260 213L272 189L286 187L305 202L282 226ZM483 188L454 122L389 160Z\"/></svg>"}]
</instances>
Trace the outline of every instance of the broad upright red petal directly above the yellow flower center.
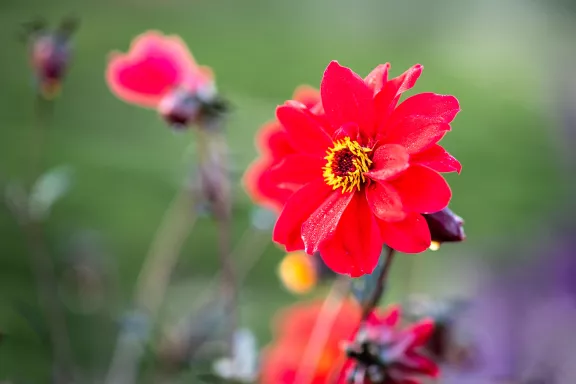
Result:
<instances>
[{"instance_id":1,"label":"broad upright red petal directly above the yellow flower center","mask_svg":"<svg viewBox=\"0 0 576 384\"><path fill-rule=\"evenodd\" d=\"M360 76L332 61L324 72L320 93L326 117L335 129L356 123L365 137L374 135L372 90Z\"/></svg>"}]
</instances>

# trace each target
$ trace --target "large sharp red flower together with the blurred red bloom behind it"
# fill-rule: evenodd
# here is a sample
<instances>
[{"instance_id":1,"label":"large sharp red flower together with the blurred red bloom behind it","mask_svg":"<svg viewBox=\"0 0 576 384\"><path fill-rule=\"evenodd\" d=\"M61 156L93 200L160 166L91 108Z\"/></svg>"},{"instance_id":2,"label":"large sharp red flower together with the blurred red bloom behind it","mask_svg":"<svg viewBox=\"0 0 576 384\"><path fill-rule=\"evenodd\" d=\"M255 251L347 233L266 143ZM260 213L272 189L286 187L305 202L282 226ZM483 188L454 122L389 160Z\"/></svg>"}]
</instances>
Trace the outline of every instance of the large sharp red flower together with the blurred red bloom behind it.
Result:
<instances>
[{"instance_id":1,"label":"large sharp red flower together with the blurred red bloom behind it","mask_svg":"<svg viewBox=\"0 0 576 384\"><path fill-rule=\"evenodd\" d=\"M438 172L461 169L437 144L460 110L456 98L421 93L398 105L422 66L393 79L389 68L362 79L330 63L318 103L278 107L278 122L260 134L262 160L245 178L257 202L282 207L276 242L289 252L319 251L326 265L352 277L374 270L384 244L426 250L431 237L422 214L451 198Z\"/></svg>"}]
</instances>

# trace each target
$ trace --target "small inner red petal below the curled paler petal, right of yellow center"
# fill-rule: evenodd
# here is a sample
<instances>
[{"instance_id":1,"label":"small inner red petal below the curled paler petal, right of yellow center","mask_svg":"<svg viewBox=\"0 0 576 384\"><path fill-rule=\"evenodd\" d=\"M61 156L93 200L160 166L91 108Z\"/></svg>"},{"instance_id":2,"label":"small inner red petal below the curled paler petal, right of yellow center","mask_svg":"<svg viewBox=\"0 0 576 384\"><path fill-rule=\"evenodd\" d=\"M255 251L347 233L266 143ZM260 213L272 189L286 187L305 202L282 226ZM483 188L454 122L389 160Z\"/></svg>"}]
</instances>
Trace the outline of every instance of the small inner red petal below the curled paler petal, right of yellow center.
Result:
<instances>
[{"instance_id":1,"label":"small inner red petal below the curled paler petal, right of yellow center","mask_svg":"<svg viewBox=\"0 0 576 384\"><path fill-rule=\"evenodd\" d=\"M388 183L375 182L366 186L366 199L372 213L381 220L399 221L406 217L400 195Z\"/></svg>"}]
</instances>

